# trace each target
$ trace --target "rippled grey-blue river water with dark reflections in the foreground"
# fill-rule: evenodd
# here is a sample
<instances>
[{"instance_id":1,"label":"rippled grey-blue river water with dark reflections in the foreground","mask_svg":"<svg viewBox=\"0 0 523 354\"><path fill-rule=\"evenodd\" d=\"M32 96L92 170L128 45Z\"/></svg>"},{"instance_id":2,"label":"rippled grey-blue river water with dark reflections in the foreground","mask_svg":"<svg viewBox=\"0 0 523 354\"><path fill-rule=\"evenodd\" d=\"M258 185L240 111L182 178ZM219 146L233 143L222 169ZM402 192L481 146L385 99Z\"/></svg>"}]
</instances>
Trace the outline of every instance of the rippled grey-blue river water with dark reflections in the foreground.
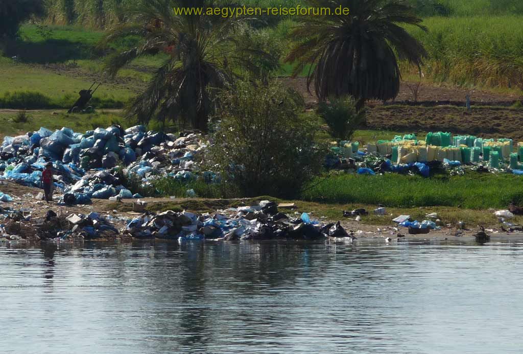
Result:
<instances>
[{"instance_id":1,"label":"rippled grey-blue river water with dark reflections in the foreground","mask_svg":"<svg viewBox=\"0 0 523 354\"><path fill-rule=\"evenodd\" d=\"M523 242L0 246L0 352L520 353Z\"/></svg>"}]
</instances>

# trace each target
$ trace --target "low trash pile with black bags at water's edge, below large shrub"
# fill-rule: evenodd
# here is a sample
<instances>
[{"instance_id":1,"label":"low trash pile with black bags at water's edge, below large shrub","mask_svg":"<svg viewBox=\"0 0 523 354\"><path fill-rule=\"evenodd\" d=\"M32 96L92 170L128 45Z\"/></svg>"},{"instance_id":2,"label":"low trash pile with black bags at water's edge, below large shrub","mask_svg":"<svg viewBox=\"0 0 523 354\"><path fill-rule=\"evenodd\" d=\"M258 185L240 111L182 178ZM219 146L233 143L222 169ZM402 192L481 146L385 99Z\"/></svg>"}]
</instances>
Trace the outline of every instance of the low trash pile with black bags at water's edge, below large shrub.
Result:
<instances>
[{"instance_id":1,"label":"low trash pile with black bags at water's edge, below large shrub","mask_svg":"<svg viewBox=\"0 0 523 354\"><path fill-rule=\"evenodd\" d=\"M230 208L215 214L145 213L131 220L123 233L136 238L177 239L184 241L323 239L325 237L355 238L338 222L320 224L303 213L290 219L278 212L275 202L261 201L251 207Z\"/></svg>"}]
</instances>

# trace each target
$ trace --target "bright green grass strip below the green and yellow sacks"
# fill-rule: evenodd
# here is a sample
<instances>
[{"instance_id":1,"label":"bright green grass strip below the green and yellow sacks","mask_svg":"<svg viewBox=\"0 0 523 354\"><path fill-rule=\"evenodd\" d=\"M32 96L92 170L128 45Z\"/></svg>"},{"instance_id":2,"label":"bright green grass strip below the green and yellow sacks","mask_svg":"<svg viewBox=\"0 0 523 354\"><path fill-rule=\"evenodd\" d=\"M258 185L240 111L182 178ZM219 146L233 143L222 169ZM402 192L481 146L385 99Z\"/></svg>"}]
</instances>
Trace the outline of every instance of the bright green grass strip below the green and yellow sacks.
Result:
<instances>
[{"instance_id":1,"label":"bright green grass strip below the green and yellow sacks","mask_svg":"<svg viewBox=\"0 0 523 354\"><path fill-rule=\"evenodd\" d=\"M523 181L509 174L459 177L358 176L343 174L313 181L303 200L324 203L383 204L388 207L506 208L523 203Z\"/></svg>"}]
</instances>

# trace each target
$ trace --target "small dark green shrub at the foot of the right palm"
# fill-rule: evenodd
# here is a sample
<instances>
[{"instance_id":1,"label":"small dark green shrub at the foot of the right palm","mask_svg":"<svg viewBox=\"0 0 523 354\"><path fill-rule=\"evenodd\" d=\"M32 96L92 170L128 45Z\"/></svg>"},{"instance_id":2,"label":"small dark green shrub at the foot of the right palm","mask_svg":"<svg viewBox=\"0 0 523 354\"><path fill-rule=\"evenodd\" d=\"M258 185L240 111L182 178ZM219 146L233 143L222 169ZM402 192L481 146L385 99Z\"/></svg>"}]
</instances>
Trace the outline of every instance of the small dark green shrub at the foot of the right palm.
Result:
<instances>
[{"instance_id":1,"label":"small dark green shrub at the foot of the right palm","mask_svg":"<svg viewBox=\"0 0 523 354\"><path fill-rule=\"evenodd\" d=\"M317 112L327 123L331 135L339 140L350 140L359 124L365 121L365 110L357 112L351 97L321 102Z\"/></svg>"}]
</instances>

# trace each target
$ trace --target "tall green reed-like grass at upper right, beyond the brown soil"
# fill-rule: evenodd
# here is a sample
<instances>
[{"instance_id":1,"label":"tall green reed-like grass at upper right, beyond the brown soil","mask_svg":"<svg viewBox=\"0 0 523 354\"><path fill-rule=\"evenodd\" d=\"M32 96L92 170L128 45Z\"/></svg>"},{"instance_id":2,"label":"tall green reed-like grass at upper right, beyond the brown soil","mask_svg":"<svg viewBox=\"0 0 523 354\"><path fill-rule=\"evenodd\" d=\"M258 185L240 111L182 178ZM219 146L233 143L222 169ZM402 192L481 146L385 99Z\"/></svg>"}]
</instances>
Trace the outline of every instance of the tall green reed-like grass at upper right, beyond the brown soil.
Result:
<instances>
[{"instance_id":1,"label":"tall green reed-like grass at upper right, beyond the brown soil","mask_svg":"<svg viewBox=\"0 0 523 354\"><path fill-rule=\"evenodd\" d=\"M523 89L523 17L433 17L428 32L408 30L429 53L423 71L435 81Z\"/></svg>"}]
</instances>

